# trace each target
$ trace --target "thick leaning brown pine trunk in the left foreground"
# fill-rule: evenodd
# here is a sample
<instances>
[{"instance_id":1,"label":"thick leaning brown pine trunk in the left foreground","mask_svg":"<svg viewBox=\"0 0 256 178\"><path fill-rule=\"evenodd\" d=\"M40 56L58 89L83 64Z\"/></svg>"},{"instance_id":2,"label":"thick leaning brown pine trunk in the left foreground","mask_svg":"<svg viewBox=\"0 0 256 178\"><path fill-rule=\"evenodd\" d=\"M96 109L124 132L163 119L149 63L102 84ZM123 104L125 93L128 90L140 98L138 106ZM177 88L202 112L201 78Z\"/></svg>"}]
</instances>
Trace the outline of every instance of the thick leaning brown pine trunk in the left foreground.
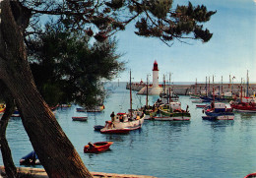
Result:
<instances>
[{"instance_id":1,"label":"thick leaning brown pine trunk in the left foreground","mask_svg":"<svg viewBox=\"0 0 256 178\"><path fill-rule=\"evenodd\" d=\"M30 18L30 11L17 1L1 1L0 79L16 100L48 176L92 177L34 85L23 36Z\"/></svg>"}]
</instances>

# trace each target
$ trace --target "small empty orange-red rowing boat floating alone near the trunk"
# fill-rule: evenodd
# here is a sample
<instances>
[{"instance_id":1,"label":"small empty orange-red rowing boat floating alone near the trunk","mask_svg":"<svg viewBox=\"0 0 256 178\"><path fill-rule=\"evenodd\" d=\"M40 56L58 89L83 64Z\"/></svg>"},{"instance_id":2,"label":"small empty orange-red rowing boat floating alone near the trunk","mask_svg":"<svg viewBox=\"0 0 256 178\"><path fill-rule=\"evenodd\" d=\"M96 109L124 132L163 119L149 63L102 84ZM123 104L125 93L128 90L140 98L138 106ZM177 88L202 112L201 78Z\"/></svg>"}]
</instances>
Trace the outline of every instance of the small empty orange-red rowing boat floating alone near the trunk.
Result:
<instances>
[{"instance_id":1,"label":"small empty orange-red rowing boat floating alone near the trunk","mask_svg":"<svg viewBox=\"0 0 256 178\"><path fill-rule=\"evenodd\" d=\"M102 152L107 149L113 144L113 142L98 142L98 143L88 143L87 146L84 147L84 152L86 153L97 153Z\"/></svg>"}]
</instances>

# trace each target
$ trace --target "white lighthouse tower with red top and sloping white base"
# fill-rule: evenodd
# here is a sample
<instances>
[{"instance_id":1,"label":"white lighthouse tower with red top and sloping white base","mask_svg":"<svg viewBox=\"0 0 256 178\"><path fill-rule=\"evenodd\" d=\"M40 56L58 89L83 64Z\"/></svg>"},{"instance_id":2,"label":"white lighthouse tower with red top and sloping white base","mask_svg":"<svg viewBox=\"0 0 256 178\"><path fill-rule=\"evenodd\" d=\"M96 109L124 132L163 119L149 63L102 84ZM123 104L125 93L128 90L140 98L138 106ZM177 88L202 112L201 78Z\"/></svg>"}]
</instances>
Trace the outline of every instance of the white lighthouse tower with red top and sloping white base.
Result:
<instances>
[{"instance_id":1,"label":"white lighthouse tower with red top and sloping white base","mask_svg":"<svg viewBox=\"0 0 256 178\"><path fill-rule=\"evenodd\" d=\"M157 61L154 62L153 66L153 85L152 87L148 88L149 95L160 95L161 88L159 84L159 64ZM138 94L147 94L147 87L142 88L139 90Z\"/></svg>"}]
</instances>

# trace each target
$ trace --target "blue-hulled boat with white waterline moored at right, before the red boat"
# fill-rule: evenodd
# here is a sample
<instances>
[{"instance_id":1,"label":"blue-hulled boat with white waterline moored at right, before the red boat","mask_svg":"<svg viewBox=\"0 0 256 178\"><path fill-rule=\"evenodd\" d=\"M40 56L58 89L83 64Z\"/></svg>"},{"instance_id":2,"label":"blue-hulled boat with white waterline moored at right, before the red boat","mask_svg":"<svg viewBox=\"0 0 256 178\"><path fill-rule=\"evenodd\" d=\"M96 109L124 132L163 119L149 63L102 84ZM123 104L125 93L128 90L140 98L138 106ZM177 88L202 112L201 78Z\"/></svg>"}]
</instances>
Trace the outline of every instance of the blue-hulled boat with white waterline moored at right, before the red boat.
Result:
<instances>
[{"instance_id":1,"label":"blue-hulled boat with white waterline moored at right, before the red boat","mask_svg":"<svg viewBox=\"0 0 256 178\"><path fill-rule=\"evenodd\" d=\"M211 105L203 109L206 116L202 116L205 120L233 120L234 114L231 108L227 108L224 103L212 102Z\"/></svg>"}]
</instances>

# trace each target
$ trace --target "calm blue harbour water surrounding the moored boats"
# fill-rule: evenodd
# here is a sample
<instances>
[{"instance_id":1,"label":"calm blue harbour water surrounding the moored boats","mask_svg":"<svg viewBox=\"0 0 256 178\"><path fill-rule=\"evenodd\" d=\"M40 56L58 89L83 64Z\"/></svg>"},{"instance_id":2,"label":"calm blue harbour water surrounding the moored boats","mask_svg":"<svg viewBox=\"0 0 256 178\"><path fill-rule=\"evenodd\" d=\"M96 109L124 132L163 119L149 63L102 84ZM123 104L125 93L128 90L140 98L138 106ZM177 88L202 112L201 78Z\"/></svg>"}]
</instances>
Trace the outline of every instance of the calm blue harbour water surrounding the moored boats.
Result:
<instances>
[{"instance_id":1,"label":"calm blue harbour water surrounding the moored boats","mask_svg":"<svg viewBox=\"0 0 256 178\"><path fill-rule=\"evenodd\" d=\"M72 121L72 116L84 115L76 112L76 105L55 113L89 170L167 178L240 178L256 171L256 114L235 113L233 121L205 121L202 110L188 96L180 96L182 108L189 105L190 122L145 121L141 130L128 135L102 135L94 126L103 125L112 111L127 111L130 99L124 83L111 83L107 89L105 110L88 113L87 122ZM134 108L145 104L146 96L133 93ZM157 98L149 99L152 103ZM21 119L10 120L7 138L20 166L19 159L32 150ZM100 141L114 144L105 152L83 152L89 142Z\"/></svg>"}]
</instances>

